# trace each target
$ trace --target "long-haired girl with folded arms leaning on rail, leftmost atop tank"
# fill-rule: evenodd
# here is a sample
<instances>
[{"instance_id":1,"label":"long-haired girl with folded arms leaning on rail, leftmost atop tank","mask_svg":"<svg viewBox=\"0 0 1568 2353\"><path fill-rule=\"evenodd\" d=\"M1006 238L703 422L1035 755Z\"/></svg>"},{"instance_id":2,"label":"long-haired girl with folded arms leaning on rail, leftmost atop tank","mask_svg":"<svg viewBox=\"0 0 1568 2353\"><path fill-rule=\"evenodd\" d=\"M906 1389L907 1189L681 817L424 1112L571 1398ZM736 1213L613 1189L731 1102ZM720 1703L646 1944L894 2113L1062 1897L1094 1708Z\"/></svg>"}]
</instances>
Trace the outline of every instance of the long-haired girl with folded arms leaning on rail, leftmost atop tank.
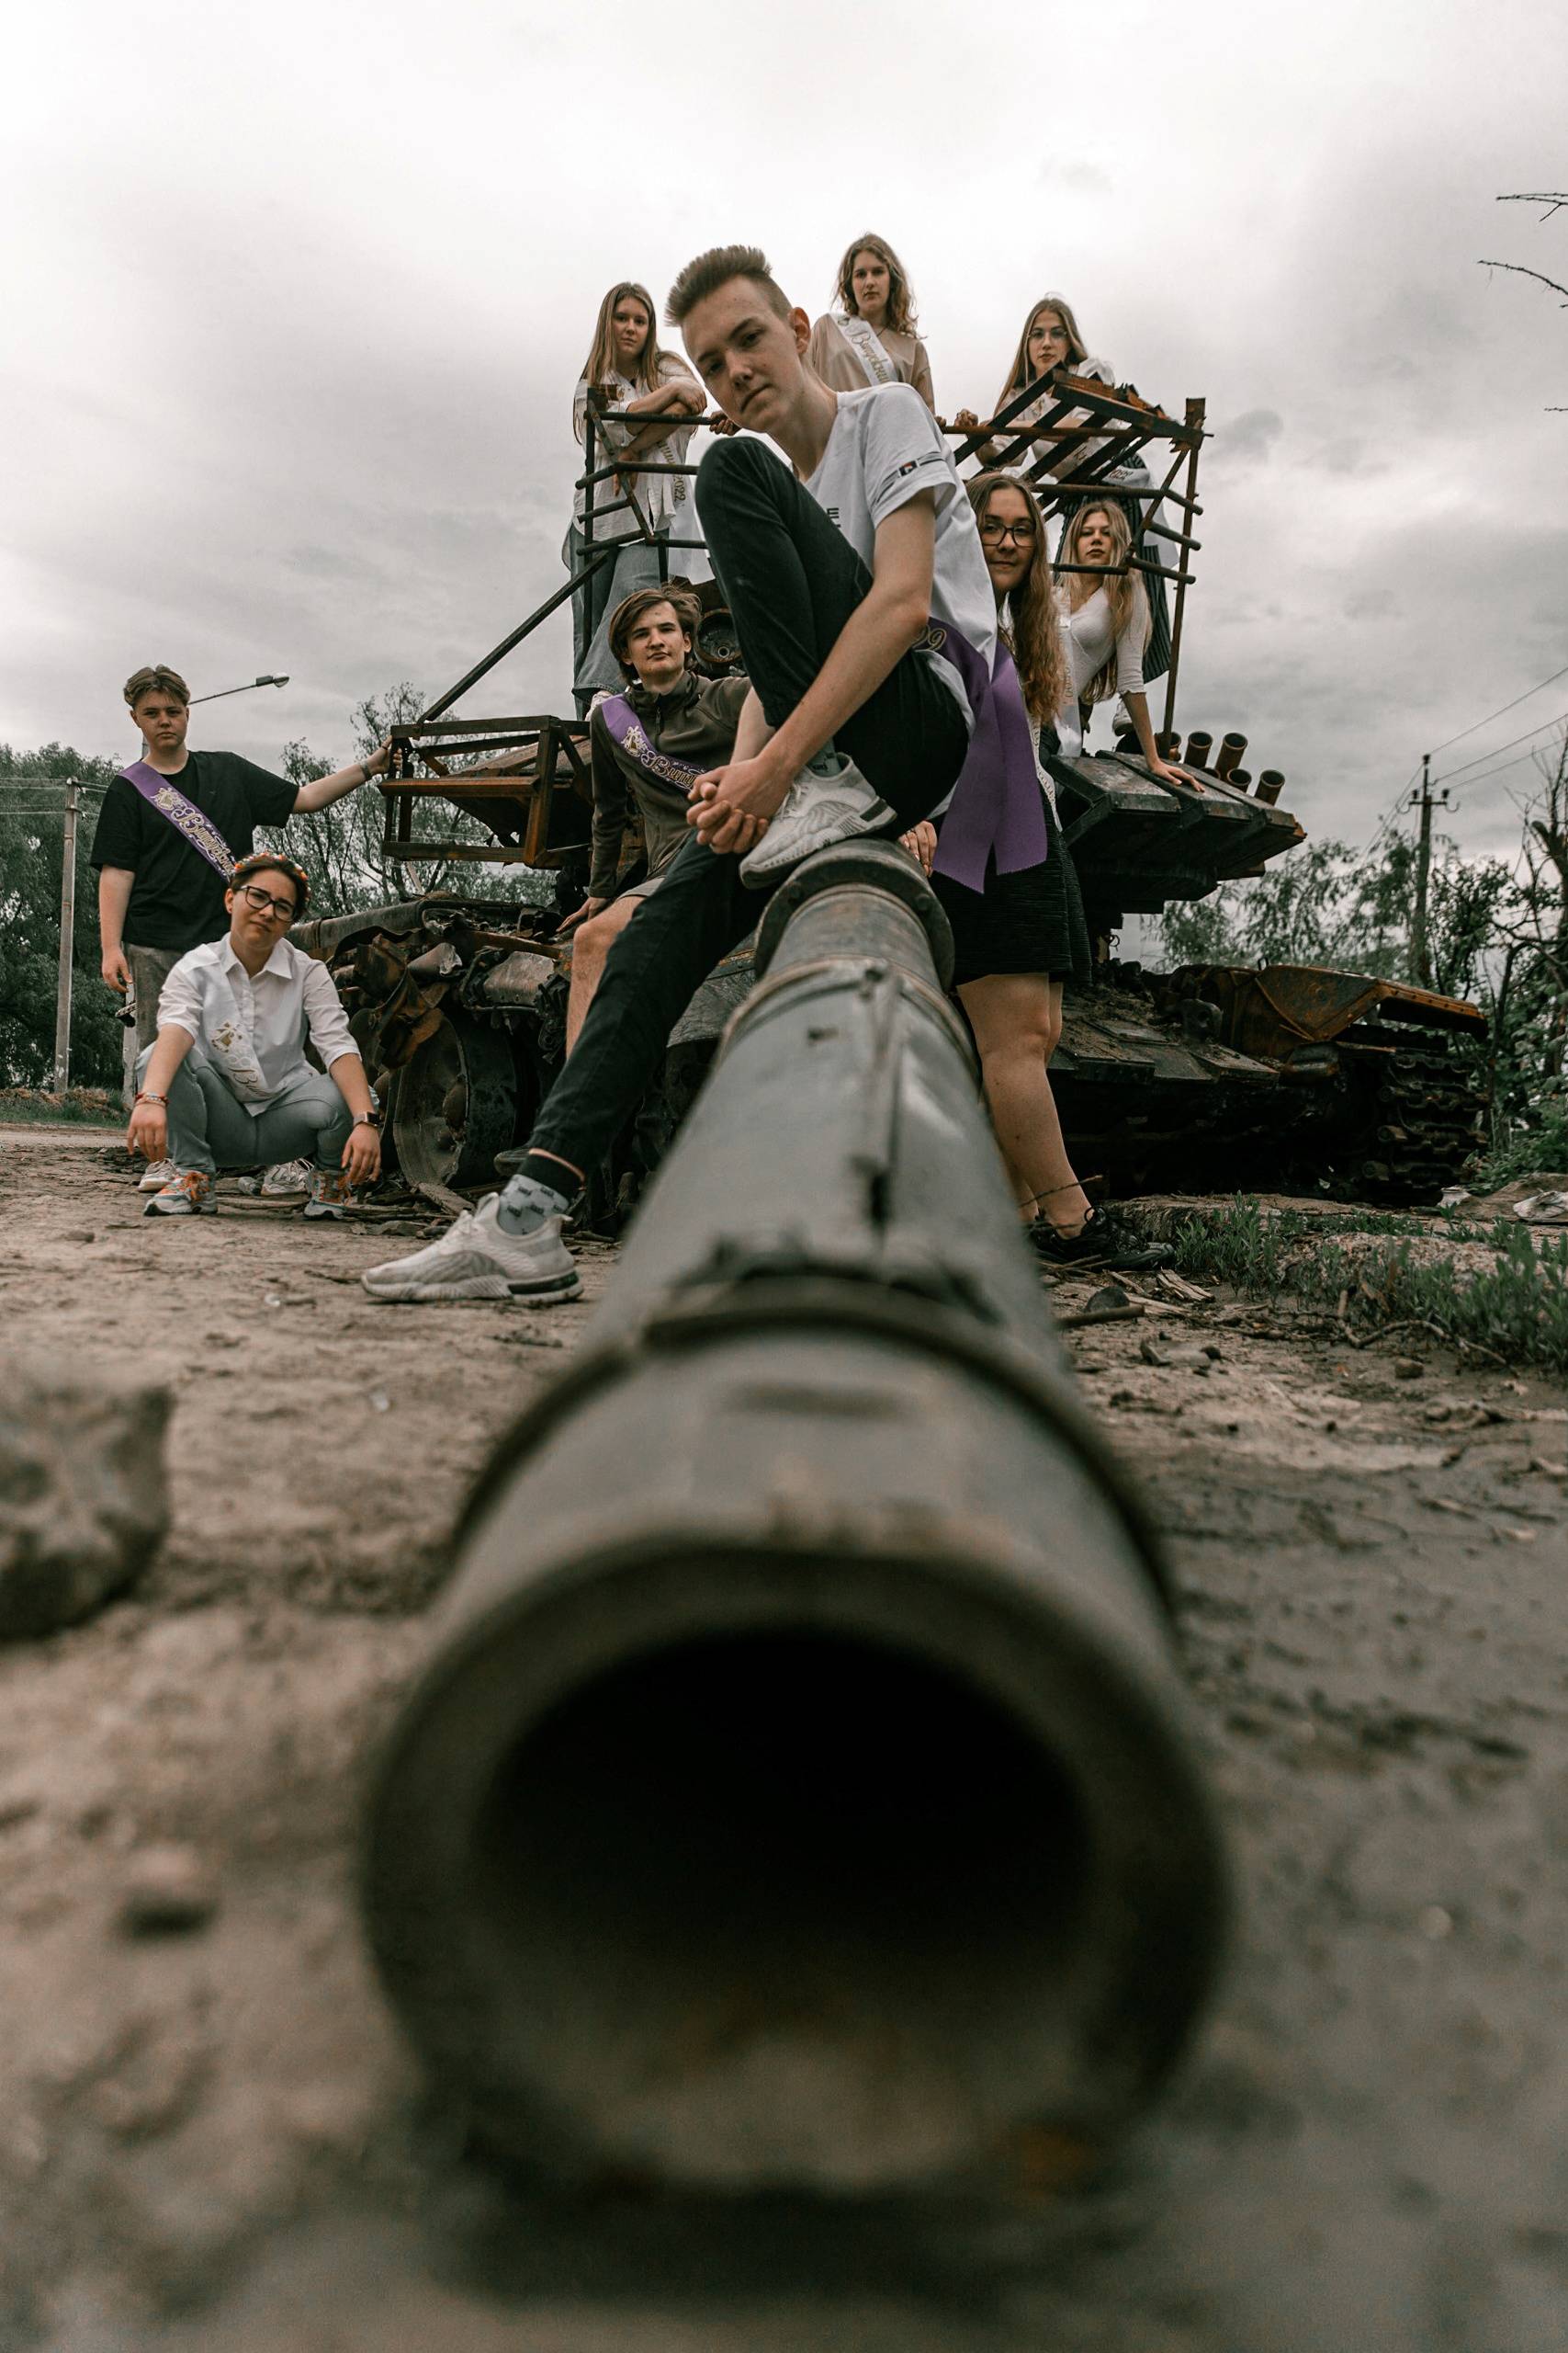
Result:
<instances>
[{"instance_id":1,"label":"long-haired girl with folded arms leaning on rail, leftmost atop tank","mask_svg":"<svg viewBox=\"0 0 1568 2353\"><path fill-rule=\"evenodd\" d=\"M632 416L651 409L679 409L682 416L701 416L708 407L703 388L686 362L672 351L658 348L654 320L654 296L630 278L614 285L599 304L588 360L571 395L571 431L578 442L588 440L590 400L597 409L630 409ZM635 515L628 506L621 506L614 515L604 515L602 525L597 522L599 508L614 506L628 494L637 499L656 541L701 539L696 499L691 496L686 475L637 473L630 464L637 456L654 456L661 464L675 466L684 464L691 445L691 426L682 424L682 416L646 426L599 424L595 428L595 466L609 466L611 459L628 464L621 473L607 475L592 487L592 541L583 534L585 492L578 489L574 494L571 525L562 548L567 572L581 572L592 546L604 546L607 539L621 539L628 529L635 529ZM635 539L616 551L614 562L599 565L592 579L574 591L571 682L581 701L597 687L614 689L621 685L621 666L607 642L607 621L632 588L646 588L663 576L661 553L646 539ZM675 551L672 567L665 555L665 569L675 569L684 579L708 576L708 565L701 551L693 548Z\"/></svg>"}]
</instances>

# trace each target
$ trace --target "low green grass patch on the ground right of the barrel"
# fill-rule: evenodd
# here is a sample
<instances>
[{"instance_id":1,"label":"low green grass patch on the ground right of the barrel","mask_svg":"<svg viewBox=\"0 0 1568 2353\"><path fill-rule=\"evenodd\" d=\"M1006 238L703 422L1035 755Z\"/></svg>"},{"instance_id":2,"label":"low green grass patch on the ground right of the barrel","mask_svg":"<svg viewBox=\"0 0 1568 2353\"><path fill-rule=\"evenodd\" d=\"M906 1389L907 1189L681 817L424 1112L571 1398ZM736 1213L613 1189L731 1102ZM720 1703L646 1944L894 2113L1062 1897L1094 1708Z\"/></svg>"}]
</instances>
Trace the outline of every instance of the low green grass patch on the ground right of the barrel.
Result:
<instances>
[{"instance_id":1,"label":"low green grass patch on the ground right of the barrel","mask_svg":"<svg viewBox=\"0 0 1568 2353\"><path fill-rule=\"evenodd\" d=\"M1418 1261L1413 1235L1389 1231L1394 1224L1415 1226L1422 1238L1486 1240L1493 1264L1460 1275L1448 1257ZM1347 1233L1382 1233L1387 1240L1373 1249L1347 1249ZM1175 1266L1194 1280L1262 1297L1293 1292L1324 1306L1345 1299L1349 1322L1418 1322L1505 1362L1568 1372L1568 1238L1537 1249L1528 1226L1512 1217L1481 1235L1460 1221L1319 1219L1300 1209L1265 1209L1237 1195L1222 1207L1194 1212L1178 1228Z\"/></svg>"}]
</instances>

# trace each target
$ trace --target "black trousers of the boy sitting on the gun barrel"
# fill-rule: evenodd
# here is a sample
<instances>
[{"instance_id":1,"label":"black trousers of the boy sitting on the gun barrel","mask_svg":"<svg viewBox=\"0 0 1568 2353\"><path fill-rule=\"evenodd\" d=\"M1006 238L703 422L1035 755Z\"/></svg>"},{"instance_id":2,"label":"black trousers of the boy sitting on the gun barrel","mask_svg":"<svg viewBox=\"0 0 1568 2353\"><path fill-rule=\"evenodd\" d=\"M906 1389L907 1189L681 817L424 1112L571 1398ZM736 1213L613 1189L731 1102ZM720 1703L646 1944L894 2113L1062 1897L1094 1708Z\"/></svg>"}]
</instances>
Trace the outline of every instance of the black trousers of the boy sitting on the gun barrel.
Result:
<instances>
[{"instance_id":1,"label":"black trousers of the boy sitting on the gun barrel","mask_svg":"<svg viewBox=\"0 0 1568 2353\"><path fill-rule=\"evenodd\" d=\"M741 654L780 727L872 584L823 508L757 440L719 440L696 478L712 567L724 584ZM917 654L903 654L875 694L835 732L905 826L952 791L969 729L950 689ZM766 892L745 889L741 859L696 833L635 920L621 932L567 1068L529 1144L590 1169L651 1082L670 1031L712 967L762 915Z\"/></svg>"}]
</instances>

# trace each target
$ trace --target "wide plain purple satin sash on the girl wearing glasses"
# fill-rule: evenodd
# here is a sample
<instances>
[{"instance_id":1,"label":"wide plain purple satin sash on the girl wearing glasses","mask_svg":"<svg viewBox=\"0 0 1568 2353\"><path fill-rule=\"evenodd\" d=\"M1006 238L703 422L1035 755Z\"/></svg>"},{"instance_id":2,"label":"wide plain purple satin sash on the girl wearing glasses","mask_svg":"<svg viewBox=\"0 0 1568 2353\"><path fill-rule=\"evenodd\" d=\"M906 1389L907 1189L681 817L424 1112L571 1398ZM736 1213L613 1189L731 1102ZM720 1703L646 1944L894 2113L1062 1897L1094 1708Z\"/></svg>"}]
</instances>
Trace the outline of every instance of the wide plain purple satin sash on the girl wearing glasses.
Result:
<instances>
[{"instance_id":1,"label":"wide plain purple satin sash on the girl wearing glasses","mask_svg":"<svg viewBox=\"0 0 1568 2353\"><path fill-rule=\"evenodd\" d=\"M1039 866L1048 852L1046 800L1034 765L1030 715L1023 708L1013 656L999 638L990 678L969 638L945 621L931 624L919 638L919 649L940 654L954 666L976 715L969 758L940 824L936 873L983 892L992 856L997 873L1011 875Z\"/></svg>"}]
</instances>

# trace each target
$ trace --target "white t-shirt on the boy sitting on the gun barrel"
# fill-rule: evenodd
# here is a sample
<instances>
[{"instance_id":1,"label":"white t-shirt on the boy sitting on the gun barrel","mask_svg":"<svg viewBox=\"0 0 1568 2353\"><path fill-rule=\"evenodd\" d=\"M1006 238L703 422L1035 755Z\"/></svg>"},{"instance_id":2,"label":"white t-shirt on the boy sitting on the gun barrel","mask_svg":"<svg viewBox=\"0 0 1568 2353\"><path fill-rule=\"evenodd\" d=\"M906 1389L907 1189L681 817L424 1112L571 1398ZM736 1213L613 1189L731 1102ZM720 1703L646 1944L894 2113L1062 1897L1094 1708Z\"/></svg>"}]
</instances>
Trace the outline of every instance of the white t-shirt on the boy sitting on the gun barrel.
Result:
<instances>
[{"instance_id":1,"label":"white t-shirt on the boy sitting on the gun barrel","mask_svg":"<svg viewBox=\"0 0 1568 2353\"><path fill-rule=\"evenodd\" d=\"M839 393L839 414L823 464L806 489L867 569L877 555L877 525L922 489L936 492L931 619L969 638L990 678L997 656L997 595L980 553L976 511L947 456L936 416L919 393L910 384L867 384L863 393ZM964 713L964 727L973 732L973 711L959 671L929 649L924 659L950 687Z\"/></svg>"}]
</instances>

